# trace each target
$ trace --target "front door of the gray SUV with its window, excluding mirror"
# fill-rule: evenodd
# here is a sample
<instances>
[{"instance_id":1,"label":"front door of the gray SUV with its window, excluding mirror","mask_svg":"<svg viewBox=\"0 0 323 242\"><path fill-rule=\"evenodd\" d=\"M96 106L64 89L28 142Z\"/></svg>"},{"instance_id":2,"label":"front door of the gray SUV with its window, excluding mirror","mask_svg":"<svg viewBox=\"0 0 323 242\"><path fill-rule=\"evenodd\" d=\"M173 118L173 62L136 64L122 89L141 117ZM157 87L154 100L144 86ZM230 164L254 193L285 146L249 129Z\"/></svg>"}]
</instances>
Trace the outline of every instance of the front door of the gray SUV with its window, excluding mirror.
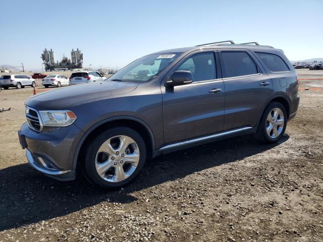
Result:
<instances>
[{"instance_id":1,"label":"front door of the gray SUV with its window, excluding mirror","mask_svg":"<svg viewBox=\"0 0 323 242\"><path fill-rule=\"evenodd\" d=\"M223 130L224 84L217 72L216 67L220 68L220 65L216 64L216 58L219 60L213 51L192 53L177 64L171 73L190 71L193 83L173 88L166 88L162 83L166 144Z\"/></svg>"}]
</instances>

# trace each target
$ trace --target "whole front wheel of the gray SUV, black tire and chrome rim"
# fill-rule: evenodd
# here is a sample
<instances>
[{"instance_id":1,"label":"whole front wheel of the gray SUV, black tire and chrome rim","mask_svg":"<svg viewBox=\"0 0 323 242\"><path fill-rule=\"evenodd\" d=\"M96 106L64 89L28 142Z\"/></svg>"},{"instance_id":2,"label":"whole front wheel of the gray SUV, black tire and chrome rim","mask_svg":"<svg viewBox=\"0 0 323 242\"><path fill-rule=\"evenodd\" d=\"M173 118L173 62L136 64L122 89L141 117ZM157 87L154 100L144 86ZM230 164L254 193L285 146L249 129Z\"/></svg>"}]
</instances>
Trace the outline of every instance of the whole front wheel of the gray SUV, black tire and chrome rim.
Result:
<instances>
[{"instance_id":1,"label":"whole front wheel of the gray SUV, black tire and chrome rim","mask_svg":"<svg viewBox=\"0 0 323 242\"><path fill-rule=\"evenodd\" d=\"M128 140L130 145L125 146L126 149L119 149L121 139ZM106 144L111 144L110 149ZM115 127L91 141L85 152L83 171L91 183L115 189L129 184L141 171L145 160L146 145L142 137L133 129ZM106 169L107 166L110 168Z\"/></svg>"}]
</instances>

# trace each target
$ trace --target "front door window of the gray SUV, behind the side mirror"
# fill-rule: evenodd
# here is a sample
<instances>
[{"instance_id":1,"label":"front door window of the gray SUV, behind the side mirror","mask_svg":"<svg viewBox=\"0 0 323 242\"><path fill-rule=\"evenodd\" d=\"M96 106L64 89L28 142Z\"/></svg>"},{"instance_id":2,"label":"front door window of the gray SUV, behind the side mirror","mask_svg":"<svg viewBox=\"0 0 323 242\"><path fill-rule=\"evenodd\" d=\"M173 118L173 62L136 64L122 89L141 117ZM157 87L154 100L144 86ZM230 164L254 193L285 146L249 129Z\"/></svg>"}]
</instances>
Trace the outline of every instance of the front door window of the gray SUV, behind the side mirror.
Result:
<instances>
[{"instance_id":1,"label":"front door window of the gray SUV, behind the side mirror","mask_svg":"<svg viewBox=\"0 0 323 242\"><path fill-rule=\"evenodd\" d=\"M190 71L194 82L216 79L214 53L203 52L194 54L186 59L177 71Z\"/></svg>"}]
</instances>

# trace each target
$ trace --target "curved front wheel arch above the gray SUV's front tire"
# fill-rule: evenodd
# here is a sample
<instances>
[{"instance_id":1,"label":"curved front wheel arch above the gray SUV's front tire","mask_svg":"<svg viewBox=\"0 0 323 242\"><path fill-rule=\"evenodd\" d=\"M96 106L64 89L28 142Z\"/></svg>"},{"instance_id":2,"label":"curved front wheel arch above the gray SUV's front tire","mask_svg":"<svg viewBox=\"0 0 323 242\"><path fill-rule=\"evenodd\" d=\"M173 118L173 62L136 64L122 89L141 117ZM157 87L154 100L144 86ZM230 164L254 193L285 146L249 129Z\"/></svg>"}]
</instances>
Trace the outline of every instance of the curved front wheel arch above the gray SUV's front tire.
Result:
<instances>
[{"instance_id":1,"label":"curved front wheel arch above the gray SUV's front tire","mask_svg":"<svg viewBox=\"0 0 323 242\"><path fill-rule=\"evenodd\" d=\"M155 147L155 140L153 133L149 126L141 119L131 116L116 116L107 119L103 119L100 122L89 128L82 138L80 139L73 157L72 169L76 169L78 164L82 163L83 151L82 147L86 146L96 134L101 130L109 129L111 127L126 126L137 131L144 139L147 146L147 157L151 156Z\"/></svg>"}]
</instances>

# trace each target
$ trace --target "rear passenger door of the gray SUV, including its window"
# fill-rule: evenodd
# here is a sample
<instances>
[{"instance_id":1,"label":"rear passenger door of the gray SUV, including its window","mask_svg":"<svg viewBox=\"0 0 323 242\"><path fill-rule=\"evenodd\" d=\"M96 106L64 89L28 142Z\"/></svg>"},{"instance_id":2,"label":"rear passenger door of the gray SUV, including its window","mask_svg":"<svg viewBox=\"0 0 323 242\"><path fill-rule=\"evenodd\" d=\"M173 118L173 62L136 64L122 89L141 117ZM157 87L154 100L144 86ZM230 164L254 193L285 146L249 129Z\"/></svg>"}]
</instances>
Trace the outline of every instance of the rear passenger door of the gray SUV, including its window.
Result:
<instances>
[{"instance_id":1,"label":"rear passenger door of the gray SUV, including its window","mask_svg":"<svg viewBox=\"0 0 323 242\"><path fill-rule=\"evenodd\" d=\"M219 51L226 89L224 130L254 127L273 93L271 78L249 50Z\"/></svg>"}]
</instances>

